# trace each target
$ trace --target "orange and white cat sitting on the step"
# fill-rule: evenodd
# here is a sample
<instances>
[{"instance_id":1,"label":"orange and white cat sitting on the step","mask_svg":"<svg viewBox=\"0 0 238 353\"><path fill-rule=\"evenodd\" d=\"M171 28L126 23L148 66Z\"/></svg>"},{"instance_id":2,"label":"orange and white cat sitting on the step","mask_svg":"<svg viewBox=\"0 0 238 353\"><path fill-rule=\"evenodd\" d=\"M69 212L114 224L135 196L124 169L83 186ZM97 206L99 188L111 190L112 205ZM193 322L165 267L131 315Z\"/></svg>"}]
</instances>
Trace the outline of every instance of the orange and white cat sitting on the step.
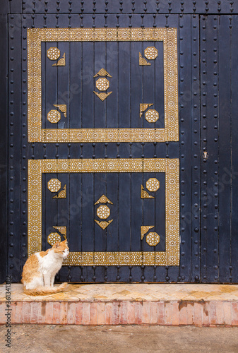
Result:
<instances>
[{"instance_id":1,"label":"orange and white cat sitting on the step","mask_svg":"<svg viewBox=\"0 0 238 353\"><path fill-rule=\"evenodd\" d=\"M24 293L28 295L46 295L61 292L67 283L54 287L54 277L60 270L64 258L69 255L67 239L57 242L52 249L33 253L23 267L21 282Z\"/></svg>"}]
</instances>

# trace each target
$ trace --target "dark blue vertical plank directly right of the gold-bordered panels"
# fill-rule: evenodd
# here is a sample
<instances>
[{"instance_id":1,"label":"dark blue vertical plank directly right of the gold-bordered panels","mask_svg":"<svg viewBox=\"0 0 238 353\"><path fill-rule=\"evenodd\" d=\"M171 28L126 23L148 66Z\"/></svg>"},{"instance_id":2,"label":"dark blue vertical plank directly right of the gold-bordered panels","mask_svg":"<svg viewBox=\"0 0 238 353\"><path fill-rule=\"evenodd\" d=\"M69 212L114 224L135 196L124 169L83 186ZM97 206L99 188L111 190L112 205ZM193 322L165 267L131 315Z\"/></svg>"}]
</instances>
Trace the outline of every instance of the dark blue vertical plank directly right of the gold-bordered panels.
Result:
<instances>
[{"instance_id":1,"label":"dark blue vertical plank directly right of the gold-bordered panels","mask_svg":"<svg viewBox=\"0 0 238 353\"><path fill-rule=\"evenodd\" d=\"M180 213L179 280L191 281L191 16L179 16ZM195 181L193 181L195 182Z\"/></svg>"}]
</instances>

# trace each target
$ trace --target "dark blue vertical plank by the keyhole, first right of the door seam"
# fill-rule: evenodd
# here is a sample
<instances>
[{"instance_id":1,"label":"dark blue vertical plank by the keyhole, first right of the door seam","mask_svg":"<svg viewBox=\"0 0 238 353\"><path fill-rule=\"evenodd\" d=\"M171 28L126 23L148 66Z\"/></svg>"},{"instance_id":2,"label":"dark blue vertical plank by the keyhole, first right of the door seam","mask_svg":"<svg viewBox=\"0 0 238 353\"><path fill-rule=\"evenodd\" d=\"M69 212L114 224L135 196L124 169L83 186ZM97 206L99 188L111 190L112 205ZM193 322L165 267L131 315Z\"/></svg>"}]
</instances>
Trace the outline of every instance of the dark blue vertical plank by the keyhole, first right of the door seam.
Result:
<instances>
[{"instance_id":1,"label":"dark blue vertical plank by the keyhole, first right of the door seam","mask_svg":"<svg viewBox=\"0 0 238 353\"><path fill-rule=\"evenodd\" d=\"M214 126L218 119L218 76L215 72L218 71L218 17L208 16L203 23L206 22L206 102L203 102L203 107L206 107L206 118L203 133L203 151L208 151L208 160L204 159L201 166L202 183L204 185L202 191L202 209L205 210L202 220L202 237L203 244L206 239L206 246L203 246L206 251L206 277L204 282L218 282L218 198L215 193L218 193L218 133ZM208 59L209 58L209 59ZM202 95L204 93L202 92Z\"/></svg>"}]
</instances>

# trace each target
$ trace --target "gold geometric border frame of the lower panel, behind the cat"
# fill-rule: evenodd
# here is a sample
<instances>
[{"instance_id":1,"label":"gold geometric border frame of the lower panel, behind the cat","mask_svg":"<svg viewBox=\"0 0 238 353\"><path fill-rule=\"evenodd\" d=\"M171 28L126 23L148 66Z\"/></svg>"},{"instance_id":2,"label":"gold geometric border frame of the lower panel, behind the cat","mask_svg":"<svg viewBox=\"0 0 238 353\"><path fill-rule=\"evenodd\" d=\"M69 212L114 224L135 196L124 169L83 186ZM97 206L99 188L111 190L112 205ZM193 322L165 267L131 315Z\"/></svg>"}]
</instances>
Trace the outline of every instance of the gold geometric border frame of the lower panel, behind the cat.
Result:
<instances>
[{"instance_id":1,"label":"gold geometric border frame of the lower panel, behind the cat","mask_svg":"<svg viewBox=\"0 0 238 353\"><path fill-rule=\"evenodd\" d=\"M42 173L165 172L165 251L71 252L64 265L179 265L179 160L28 160L28 256L42 250Z\"/></svg>"}]
</instances>

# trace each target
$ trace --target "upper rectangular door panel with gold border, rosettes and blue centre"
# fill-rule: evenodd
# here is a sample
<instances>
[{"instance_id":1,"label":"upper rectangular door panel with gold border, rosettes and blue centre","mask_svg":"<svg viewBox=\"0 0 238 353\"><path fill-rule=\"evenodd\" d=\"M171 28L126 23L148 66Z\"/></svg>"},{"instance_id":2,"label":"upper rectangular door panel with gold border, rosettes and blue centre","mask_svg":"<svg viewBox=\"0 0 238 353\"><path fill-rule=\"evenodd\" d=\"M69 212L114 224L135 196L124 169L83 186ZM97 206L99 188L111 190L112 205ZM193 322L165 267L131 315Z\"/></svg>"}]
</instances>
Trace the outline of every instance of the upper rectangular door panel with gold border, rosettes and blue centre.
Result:
<instances>
[{"instance_id":1,"label":"upper rectangular door panel with gold border, rosettes and blue centre","mask_svg":"<svg viewBox=\"0 0 238 353\"><path fill-rule=\"evenodd\" d=\"M28 29L29 142L177 140L176 28Z\"/></svg>"}]
</instances>

